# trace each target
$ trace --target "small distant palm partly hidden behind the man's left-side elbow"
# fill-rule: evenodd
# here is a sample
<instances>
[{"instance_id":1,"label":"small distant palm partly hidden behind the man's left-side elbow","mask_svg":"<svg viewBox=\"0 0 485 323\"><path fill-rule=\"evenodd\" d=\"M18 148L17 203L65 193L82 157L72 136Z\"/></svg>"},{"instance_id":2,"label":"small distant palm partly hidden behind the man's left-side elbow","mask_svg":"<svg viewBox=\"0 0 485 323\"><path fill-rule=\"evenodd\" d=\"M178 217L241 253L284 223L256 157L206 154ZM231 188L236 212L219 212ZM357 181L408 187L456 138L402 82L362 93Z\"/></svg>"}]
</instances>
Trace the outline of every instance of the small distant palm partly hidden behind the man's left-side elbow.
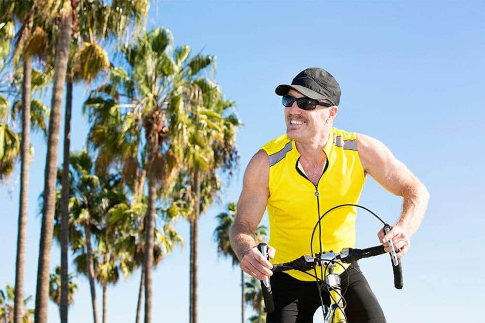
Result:
<instances>
[{"instance_id":1,"label":"small distant palm partly hidden behind the man's left-side elbow","mask_svg":"<svg viewBox=\"0 0 485 323\"><path fill-rule=\"evenodd\" d=\"M214 230L214 240L217 243L217 253L232 260L232 265L238 265L239 259L234 250L231 248L229 239L230 227L234 223L237 207L236 203L230 202L227 205L227 212L219 213L217 217L218 226ZM267 237L266 226L259 226L255 232L255 240L257 243L263 242ZM245 283L244 271L241 270L241 322L244 323L244 308L245 308Z\"/></svg>"}]
</instances>

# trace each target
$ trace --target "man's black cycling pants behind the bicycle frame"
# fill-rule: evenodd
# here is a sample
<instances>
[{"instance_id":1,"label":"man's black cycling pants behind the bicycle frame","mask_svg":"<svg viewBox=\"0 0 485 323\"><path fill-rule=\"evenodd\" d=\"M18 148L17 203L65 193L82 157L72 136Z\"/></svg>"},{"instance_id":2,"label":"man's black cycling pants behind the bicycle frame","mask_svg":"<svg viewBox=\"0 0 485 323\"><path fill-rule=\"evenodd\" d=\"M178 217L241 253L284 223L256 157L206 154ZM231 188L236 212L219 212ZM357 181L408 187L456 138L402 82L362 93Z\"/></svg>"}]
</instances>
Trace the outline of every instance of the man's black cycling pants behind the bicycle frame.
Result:
<instances>
[{"instance_id":1,"label":"man's black cycling pants behind the bicycle frame","mask_svg":"<svg viewBox=\"0 0 485 323\"><path fill-rule=\"evenodd\" d=\"M342 290L347 286L347 281L349 282L344 295L347 302L345 315L348 322L386 322L382 308L358 264L352 263L347 268L347 273L348 276L343 273L340 278ZM273 275L270 282L275 311L268 314L266 322L313 322L313 314L321 306L316 282L301 281L285 273ZM328 306L330 296L325 288L323 288L322 297L323 302Z\"/></svg>"}]
</instances>

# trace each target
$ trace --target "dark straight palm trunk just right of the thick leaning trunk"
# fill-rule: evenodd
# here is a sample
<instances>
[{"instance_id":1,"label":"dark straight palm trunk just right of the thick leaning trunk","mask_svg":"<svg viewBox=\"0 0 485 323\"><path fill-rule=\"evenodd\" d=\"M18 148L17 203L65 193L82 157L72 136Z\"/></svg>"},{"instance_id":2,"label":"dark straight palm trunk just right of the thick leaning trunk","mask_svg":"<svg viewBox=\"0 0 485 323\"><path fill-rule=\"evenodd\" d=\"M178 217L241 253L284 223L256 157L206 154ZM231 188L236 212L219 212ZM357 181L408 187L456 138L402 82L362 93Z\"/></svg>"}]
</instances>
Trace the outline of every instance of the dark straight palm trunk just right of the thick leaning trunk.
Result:
<instances>
[{"instance_id":1,"label":"dark straight palm trunk just right of the thick leaning trunk","mask_svg":"<svg viewBox=\"0 0 485 323\"><path fill-rule=\"evenodd\" d=\"M71 137L72 82L66 82L65 121L64 121L64 161L62 169L61 192L61 323L67 323L67 294L69 277L67 276L67 247L69 245L69 149Z\"/></svg>"}]
</instances>

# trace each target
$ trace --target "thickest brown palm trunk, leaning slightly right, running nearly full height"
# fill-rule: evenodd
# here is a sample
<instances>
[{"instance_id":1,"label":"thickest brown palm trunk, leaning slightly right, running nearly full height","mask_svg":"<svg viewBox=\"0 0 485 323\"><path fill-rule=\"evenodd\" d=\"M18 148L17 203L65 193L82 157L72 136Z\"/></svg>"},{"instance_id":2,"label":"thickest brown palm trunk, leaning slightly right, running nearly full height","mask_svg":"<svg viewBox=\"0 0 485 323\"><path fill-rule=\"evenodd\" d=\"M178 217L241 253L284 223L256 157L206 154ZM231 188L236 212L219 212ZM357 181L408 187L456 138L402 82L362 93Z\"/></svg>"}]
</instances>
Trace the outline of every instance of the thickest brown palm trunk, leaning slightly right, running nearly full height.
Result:
<instances>
[{"instance_id":1,"label":"thickest brown palm trunk, leaning slightly right, running nearly full height","mask_svg":"<svg viewBox=\"0 0 485 323\"><path fill-rule=\"evenodd\" d=\"M61 23L56 45L54 85L49 117L49 136L47 142L46 169L44 177L44 205L40 231L39 261L37 269L37 288L35 293L36 323L47 323L47 303L49 301L49 263L52 232L54 230L54 210L57 175L57 149L61 124L61 106L64 83L69 58L69 42L72 32L72 9L69 1L64 2L61 10Z\"/></svg>"}]
</instances>

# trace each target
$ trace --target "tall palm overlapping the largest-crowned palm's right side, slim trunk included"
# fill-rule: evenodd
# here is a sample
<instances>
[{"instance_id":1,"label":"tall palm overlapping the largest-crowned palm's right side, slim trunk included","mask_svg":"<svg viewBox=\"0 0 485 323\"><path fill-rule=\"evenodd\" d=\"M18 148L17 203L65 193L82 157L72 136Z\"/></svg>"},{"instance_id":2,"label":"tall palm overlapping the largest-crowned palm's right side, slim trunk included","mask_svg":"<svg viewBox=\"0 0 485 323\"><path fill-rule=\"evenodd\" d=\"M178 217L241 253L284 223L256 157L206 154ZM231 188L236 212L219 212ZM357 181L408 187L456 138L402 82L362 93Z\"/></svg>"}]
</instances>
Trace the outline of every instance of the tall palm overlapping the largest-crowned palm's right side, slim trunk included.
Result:
<instances>
[{"instance_id":1,"label":"tall palm overlapping the largest-crowned palm's right side, slim trunk included","mask_svg":"<svg viewBox=\"0 0 485 323\"><path fill-rule=\"evenodd\" d=\"M197 64L210 65L212 57L199 60ZM197 322L197 231L198 219L214 200L220 189L217 171L231 174L238 163L239 155L235 145L235 132L241 124L234 113L234 103L223 99L220 87L204 77L191 78L185 82L192 95L186 98L191 111L189 120L190 140L185 149L184 171L189 179L193 213L191 225L191 322ZM204 187L204 189L202 189Z\"/></svg>"}]
</instances>

